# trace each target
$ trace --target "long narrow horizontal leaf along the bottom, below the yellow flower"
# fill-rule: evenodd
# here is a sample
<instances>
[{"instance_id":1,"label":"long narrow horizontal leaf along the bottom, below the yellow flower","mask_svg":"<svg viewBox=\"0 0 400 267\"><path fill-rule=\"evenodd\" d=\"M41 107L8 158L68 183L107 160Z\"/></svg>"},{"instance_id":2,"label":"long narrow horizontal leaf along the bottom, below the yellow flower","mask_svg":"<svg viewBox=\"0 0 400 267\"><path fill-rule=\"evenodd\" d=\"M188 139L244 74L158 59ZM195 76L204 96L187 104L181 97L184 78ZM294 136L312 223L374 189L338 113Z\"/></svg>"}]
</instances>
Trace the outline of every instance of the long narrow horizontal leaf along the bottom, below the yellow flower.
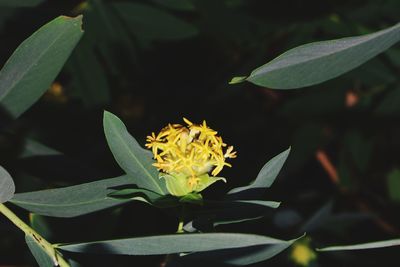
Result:
<instances>
[{"instance_id":1,"label":"long narrow horizontal leaf along the bottom, below the yellow flower","mask_svg":"<svg viewBox=\"0 0 400 267\"><path fill-rule=\"evenodd\" d=\"M281 245L287 244L287 242L290 241L260 235L208 233L136 237L61 245L59 248L65 251L80 253L159 255L261 245Z\"/></svg>"}]
</instances>

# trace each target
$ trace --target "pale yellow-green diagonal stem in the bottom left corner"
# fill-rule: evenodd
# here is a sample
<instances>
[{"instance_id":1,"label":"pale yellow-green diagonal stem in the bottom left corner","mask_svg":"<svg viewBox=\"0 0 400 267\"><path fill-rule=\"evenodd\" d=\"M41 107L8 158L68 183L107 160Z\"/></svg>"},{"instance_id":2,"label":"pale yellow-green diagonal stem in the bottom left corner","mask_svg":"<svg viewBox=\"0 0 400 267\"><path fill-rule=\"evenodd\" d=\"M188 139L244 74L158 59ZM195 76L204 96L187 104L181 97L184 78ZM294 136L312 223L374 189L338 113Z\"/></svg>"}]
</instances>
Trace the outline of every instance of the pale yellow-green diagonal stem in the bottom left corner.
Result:
<instances>
[{"instance_id":1,"label":"pale yellow-green diagonal stem in the bottom left corner","mask_svg":"<svg viewBox=\"0 0 400 267\"><path fill-rule=\"evenodd\" d=\"M8 209L4 204L0 204L0 213L3 213L15 226L17 226L25 235L28 235L34 239L38 245L46 252L47 255L53 260L54 266L70 267L70 265L64 260L63 257L55 250L52 244L44 239L40 234L33 230L24 221L18 218L14 212Z\"/></svg>"}]
</instances>

